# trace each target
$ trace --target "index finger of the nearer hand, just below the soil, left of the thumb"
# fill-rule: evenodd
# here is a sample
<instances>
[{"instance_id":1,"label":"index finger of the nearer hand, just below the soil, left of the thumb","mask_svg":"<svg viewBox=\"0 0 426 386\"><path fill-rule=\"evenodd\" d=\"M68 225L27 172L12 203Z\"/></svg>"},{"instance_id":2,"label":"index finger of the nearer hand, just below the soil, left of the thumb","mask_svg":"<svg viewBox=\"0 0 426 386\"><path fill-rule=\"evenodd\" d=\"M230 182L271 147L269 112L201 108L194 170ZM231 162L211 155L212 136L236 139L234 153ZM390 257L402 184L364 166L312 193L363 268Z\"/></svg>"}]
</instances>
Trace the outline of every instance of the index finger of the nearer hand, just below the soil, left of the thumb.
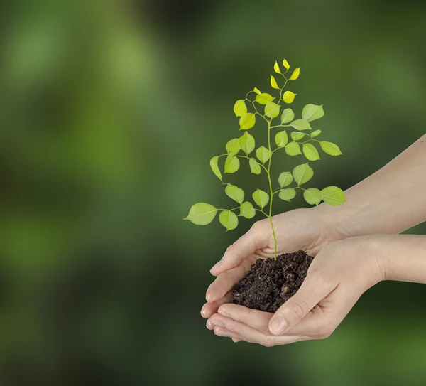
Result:
<instances>
[{"instance_id":1,"label":"index finger of the nearer hand, just below the soil, left of the thumb","mask_svg":"<svg viewBox=\"0 0 426 386\"><path fill-rule=\"evenodd\" d=\"M221 305L217 312L226 318L234 319L234 321L239 321L246 326L269 334L268 324L273 316L272 313L248 309L237 304Z\"/></svg>"}]
</instances>

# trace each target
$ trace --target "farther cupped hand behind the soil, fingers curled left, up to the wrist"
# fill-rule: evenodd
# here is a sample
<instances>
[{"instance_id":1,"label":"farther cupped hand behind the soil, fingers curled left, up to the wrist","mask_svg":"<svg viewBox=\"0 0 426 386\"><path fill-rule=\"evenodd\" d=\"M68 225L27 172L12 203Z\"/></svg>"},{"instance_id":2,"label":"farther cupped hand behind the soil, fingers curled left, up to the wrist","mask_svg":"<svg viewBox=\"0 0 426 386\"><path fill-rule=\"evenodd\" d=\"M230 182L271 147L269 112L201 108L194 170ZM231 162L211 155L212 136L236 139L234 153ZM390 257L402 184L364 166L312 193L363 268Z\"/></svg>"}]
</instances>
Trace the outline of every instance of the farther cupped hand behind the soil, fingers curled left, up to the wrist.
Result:
<instances>
[{"instance_id":1,"label":"farther cupped hand behind the soil, fingers curled left, up to the wrist","mask_svg":"<svg viewBox=\"0 0 426 386\"><path fill-rule=\"evenodd\" d=\"M328 207L291 210L272 218L278 239L278 254L304 250L315 256L334 240L346 237L329 215ZM258 221L225 252L224 257L210 271L217 278L207 289L207 304L202 316L210 318L219 306L229 303L232 287L249 271L258 258L271 258L274 241L268 219Z\"/></svg>"}]
</instances>

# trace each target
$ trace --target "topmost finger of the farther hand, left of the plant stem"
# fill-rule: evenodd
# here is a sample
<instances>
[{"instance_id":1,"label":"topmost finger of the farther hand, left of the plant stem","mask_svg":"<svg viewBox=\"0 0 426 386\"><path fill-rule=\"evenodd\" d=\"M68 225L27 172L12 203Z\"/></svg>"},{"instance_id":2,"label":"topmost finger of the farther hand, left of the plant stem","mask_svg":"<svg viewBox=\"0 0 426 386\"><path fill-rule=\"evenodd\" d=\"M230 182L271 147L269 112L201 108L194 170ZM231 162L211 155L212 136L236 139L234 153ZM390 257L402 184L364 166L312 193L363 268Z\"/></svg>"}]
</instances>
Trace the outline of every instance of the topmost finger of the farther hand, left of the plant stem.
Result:
<instances>
[{"instance_id":1,"label":"topmost finger of the farther hand, left of the plant stem","mask_svg":"<svg viewBox=\"0 0 426 386\"><path fill-rule=\"evenodd\" d=\"M271 229L269 223L265 220L255 223L249 232L236 240L234 244L228 247L224 257L210 270L214 276L222 274L228 269L234 268L239 265L246 257L267 247L271 238Z\"/></svg>"}]
</instances>

